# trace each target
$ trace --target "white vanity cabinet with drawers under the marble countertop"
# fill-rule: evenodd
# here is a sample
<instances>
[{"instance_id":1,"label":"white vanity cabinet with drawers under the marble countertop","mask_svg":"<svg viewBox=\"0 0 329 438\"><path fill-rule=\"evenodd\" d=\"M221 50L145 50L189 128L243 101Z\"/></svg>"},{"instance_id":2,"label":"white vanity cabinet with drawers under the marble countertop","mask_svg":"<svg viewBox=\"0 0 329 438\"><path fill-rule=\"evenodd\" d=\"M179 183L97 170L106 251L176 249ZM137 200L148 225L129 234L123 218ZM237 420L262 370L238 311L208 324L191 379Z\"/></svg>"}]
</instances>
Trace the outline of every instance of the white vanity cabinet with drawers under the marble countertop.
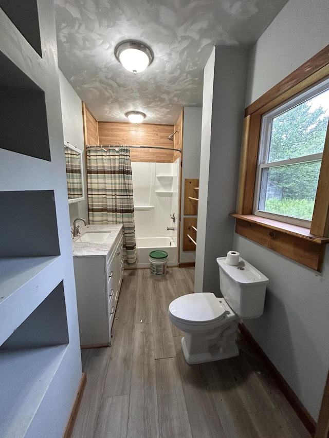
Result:
<instances>
[{"instance_id":1,"label":"white vanity cabinet with drawers under the marble countertop","mask_svg":"<svg viewBox=\"0 0 329 438\"><path fill-rule=\"evenodd\" d=\"M107 253L74 257L82 348L110 344L123 268L121 230Z\"/></svg>"}]
</instances>

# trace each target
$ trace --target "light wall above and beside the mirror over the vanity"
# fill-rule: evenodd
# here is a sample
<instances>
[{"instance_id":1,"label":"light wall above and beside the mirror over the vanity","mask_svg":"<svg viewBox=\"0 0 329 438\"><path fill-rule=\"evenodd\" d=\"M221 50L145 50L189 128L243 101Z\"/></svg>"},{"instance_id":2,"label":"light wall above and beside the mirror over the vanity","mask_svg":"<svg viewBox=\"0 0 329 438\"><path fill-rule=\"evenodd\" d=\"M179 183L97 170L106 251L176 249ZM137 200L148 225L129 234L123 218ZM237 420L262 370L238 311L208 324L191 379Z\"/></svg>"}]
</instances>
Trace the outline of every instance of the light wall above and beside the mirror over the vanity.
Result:
<instances>
[{"instance_id":1,"label":"light wall above and beside the mirror over the vanity","mask_svg":"<svg viewBox=\"0 0 329 438\"><path fill-rule=\"evenodd\" d=\"M84 154L83 140L82 102L78 94L65 79L61 71L59 72L59 75L64 141L83 151L82 175L85 189L85 200L69 204L70 224L73 225L74 219L78 217L86 219L86 221L88 222L87 179L85 170L86 160Z\"/></svg>"}]
</instances>

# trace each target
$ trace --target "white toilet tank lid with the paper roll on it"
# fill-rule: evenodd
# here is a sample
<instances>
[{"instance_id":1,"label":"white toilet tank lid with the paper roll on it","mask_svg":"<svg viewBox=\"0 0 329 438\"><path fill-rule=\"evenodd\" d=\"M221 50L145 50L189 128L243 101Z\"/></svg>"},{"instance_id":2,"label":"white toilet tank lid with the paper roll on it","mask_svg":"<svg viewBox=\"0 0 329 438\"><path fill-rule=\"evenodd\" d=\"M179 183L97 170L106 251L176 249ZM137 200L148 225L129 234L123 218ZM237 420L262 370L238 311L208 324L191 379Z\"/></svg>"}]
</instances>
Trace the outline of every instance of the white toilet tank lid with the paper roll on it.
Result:
<instances>
[{"instance_id":1,"label":"white toilet tank lid with the paper roll on it","mask_svg":"<svg viewBox=\"0 0 329 438\"><path fill-rule=\"evenodd\" d=\"M226 257L218 257L218 266L220 266L226 274L239 284L247 285L253 283L268 283L268 278L262 274L258 269L254 268L252 264L240 257L237 266L230 266L226 264Z\"/></svg>"}]
</instances>

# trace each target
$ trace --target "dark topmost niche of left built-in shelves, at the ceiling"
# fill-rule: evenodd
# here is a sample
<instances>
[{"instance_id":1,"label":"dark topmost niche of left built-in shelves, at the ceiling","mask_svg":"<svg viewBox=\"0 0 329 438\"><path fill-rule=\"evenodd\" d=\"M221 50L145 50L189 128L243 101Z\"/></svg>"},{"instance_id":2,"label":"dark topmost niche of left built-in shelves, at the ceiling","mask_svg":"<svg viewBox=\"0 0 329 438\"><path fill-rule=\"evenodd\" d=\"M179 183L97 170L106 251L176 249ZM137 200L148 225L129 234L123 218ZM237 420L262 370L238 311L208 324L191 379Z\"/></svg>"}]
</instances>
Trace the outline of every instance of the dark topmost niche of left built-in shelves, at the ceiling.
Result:
<instances>
[{"instance_id":1,"label":"dark topmost niche of left built-in shelves, at the ceiling","mask_svg":"<svg viewBox=\"0 0 329 438\"><path fill-rule=\"evenodd\" d=\"M10 18L33 49L42 56L38 5L36 0L13 2L0 0L0 8Z\"/></svg>"}]
</instances>

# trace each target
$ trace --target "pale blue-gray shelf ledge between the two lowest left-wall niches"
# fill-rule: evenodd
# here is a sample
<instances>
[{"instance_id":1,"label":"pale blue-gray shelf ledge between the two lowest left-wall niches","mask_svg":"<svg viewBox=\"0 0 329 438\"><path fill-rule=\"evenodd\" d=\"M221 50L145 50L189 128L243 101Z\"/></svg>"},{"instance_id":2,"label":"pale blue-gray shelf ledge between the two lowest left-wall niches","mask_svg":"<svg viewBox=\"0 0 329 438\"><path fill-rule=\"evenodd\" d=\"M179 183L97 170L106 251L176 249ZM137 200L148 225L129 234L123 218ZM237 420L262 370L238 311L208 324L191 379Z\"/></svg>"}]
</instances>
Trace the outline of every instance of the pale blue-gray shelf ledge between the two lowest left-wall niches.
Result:
<instances>
[{"instance_id":1,"label":"pale blue-gray shelf ledge between the two lowest left-wall niches","mask_svg":"<svg viewBox=\"0 0 329 438\"><path fill-rule=\"evenodd\" d=\"M58 259L0 258L0 345L57 286Z\"/></svg>"}]
</instances>

